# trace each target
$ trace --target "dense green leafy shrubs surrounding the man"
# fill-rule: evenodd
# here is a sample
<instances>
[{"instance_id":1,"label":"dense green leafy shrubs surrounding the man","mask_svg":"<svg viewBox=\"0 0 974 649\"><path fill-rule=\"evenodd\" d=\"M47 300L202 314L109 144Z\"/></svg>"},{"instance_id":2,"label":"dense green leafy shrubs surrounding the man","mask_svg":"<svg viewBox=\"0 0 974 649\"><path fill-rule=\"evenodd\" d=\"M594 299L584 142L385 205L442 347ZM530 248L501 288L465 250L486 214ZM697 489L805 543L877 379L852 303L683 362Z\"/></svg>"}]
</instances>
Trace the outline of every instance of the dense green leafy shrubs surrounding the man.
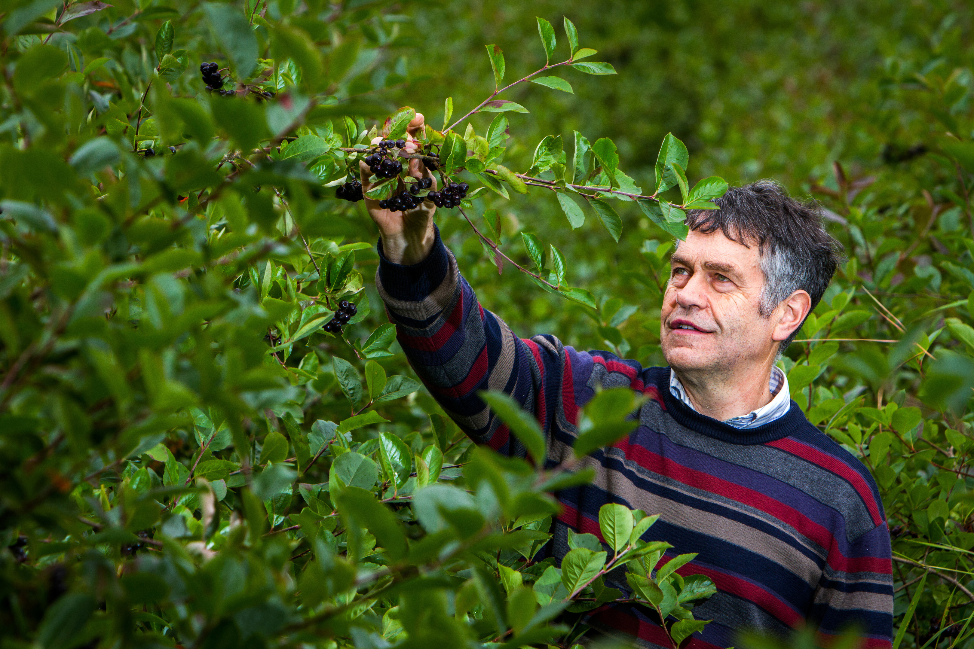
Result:
<instances>
[{"instance_id":1,"label":"dense green leafy shrubs surrounding the man","mask_svg":"<svg viewBox=\"0 0 974 649\"><path fill-rule=\"evenodd\" d=\"M341 149L367 141L374 118L408 104L438 128L450 96L457 120L494 90L485 46L506 54L509 83L544 64L536 16L554 25L551 60L568 54L563 15L581 47L599 51L585 61L618 75L559 68L551 74L572 93L549 82L504 94L530 113L504 113L503 164L527 171L548 135L570 161L580 131L595 145L611 138L618 167L644 188L635 193L652 195L658 143L672 132L690 150L691 187L769 176L822 201L849 261L782 366L812 423L880 485L899 646L970 644L970 7L277 0L2 11L7 646L567 646L584 631L581 612L617 596L576 577L598 574L608 559L597 555L619 547L579 535L571 574L531 561L554 513L544 492L585 477L469 449L383 326L362 203L333 198L351 154ZM245 89L224 84L238 96L213 96L198 73L209 60L233 80L253 76ZM497 115L474 115L476 134L490 139ZM509 200L488 191L465 211L514 262L581 287L595 307L509 263L499 275L468 222L441 213L483 304L522 336L661 364L656 306L672 236L635 203L606 200L617 243L593 209L602 203L580 203L576 229L578 213L570 223L561 206L571 194L521 195L507 180ZM685 202L676 185L662 197ZM342 298L358 314L344 338L322 333ZM608 439L590 432L596 446ZM652 558L639 543L630 552ZM646 557L633 561L643 601L665 608L693 594L690 580L653 586Z\"/></svg>"}]
</instances>

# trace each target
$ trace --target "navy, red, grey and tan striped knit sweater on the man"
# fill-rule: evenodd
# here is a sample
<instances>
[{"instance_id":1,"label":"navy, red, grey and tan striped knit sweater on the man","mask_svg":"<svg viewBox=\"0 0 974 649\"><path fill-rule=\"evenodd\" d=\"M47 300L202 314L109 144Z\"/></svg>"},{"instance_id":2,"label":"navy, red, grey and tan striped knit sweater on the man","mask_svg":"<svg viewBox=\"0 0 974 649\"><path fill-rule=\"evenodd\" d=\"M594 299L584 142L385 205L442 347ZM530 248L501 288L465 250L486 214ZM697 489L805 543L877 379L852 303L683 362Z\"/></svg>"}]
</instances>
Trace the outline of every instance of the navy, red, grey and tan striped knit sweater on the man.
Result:
<instances>
[{"instance_id":1,"label":"navy, red, grey and tan striped knit sweater on the man","mask_svg":"<svg viewBox=\"0 0 974 649\"><path fill-rule=\"evenodd\" d=\"M478 390L504 390L538 418L551 464L569 456L579 409L596 388L629 386L649 397L638 428L582 460L594 482L556 494L556 559L568 552L568 529L600 536L599 508L618 502L659 514L644 539L670 543L673 555L698 553L679 572L717 586L693 609L713 622L687 646L729 647L744 630L786 638L805 625L821 641L856 626L865 646L890 646L893 580L880 494L862 463L797 404L739 430L674 398L667 368L577 351L552 336L519 339L479 305L438 233L420 264L382 257L376 284L416 373L471 439L495 451L526 453ZM624 581L614 586L628 590ZM637 604L605 606L588 623L639 646L670 646Z\"/></svg>"}]
</instances>

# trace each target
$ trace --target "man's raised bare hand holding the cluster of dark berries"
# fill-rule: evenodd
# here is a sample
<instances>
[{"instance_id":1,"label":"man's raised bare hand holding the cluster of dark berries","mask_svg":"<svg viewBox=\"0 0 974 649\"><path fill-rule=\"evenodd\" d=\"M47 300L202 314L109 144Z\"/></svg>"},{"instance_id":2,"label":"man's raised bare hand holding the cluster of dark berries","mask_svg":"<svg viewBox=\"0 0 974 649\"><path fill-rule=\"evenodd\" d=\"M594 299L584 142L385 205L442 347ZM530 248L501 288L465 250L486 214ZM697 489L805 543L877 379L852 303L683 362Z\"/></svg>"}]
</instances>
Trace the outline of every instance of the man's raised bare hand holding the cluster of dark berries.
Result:
<instances>
[{"instance_id":1,"label":"man's raised bare hand holding the cluster of dark berries","mask_svg":"<svg viewBox=\"0 0 974 649\"><path fill-rule=\"evenodd\" d=\"M406 154L413 154L419 150L414 135L420 132L426 125L423 122L423 115L416 114L416 119L409 123L406 134L406 146L403 151ZM379 142L382 138L375 138L372 143ZM371 175L368 164L359 162L361 171L362 194L370 190L375 183L369 183ZM420 160L409 161L409 175L414 178L432 178L431 191L436 189L436 179ZM419 207L406 212L392 212L388 209L379 207L378 200L365 198L365 207L368 209L369 216L379 226L379 234L382 236L382 249L386 254L386 259L395 264L412 265L419 264L427 255L430 254L432 243L436 234L432 228L432 215L436 207L430 200L424 200Z\"/></svg>"}]
</instances>

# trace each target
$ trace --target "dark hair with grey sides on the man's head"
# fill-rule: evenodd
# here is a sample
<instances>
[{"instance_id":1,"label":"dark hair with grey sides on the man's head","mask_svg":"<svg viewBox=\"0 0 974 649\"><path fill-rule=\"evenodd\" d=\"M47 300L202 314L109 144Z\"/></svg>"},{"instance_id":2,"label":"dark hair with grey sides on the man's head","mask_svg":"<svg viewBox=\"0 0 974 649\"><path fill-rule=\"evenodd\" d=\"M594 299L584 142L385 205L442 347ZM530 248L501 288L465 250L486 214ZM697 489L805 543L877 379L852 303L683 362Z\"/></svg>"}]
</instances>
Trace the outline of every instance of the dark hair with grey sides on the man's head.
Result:
<instances>
[{"instance_id":1,"label":"dark hair with grey sides on the man's head","mask_svg":"<svg viewBox=\"0 0 974 649\"><path fill-rule=\"evenodd\" d=\"M701 234L720 229L732 241L758 246L765 273L761 315L768 317L799 289L808 293L815 308L843 263L843 246L822 226L821 207L813 200L789 197L773 180L732 187L714 202L720 209L689 210L687 226ZM779 345L779 354L801 329Z\"/></svg>"}]
</instances>

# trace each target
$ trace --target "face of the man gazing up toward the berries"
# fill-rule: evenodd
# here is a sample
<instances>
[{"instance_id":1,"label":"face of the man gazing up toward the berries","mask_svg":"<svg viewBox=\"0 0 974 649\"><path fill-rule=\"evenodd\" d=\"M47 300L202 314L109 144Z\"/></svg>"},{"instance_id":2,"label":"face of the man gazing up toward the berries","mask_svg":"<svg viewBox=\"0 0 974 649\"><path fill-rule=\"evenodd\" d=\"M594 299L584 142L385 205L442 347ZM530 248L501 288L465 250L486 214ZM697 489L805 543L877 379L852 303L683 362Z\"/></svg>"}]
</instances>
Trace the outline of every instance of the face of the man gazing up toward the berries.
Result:
<instances>
[{"instance_id":1,"label":"face of the man gazing up toward the berries","mask_svg":"<svg viewBox=\"0 0 974 649\"><path fill-rule=\"evenodd\" d=\"M659 339L677 371L726 373L773 358L775 317L759 312L765 273L758 246L720 230L691 231L670 260Z\"/></svg>"}]
</instances>

